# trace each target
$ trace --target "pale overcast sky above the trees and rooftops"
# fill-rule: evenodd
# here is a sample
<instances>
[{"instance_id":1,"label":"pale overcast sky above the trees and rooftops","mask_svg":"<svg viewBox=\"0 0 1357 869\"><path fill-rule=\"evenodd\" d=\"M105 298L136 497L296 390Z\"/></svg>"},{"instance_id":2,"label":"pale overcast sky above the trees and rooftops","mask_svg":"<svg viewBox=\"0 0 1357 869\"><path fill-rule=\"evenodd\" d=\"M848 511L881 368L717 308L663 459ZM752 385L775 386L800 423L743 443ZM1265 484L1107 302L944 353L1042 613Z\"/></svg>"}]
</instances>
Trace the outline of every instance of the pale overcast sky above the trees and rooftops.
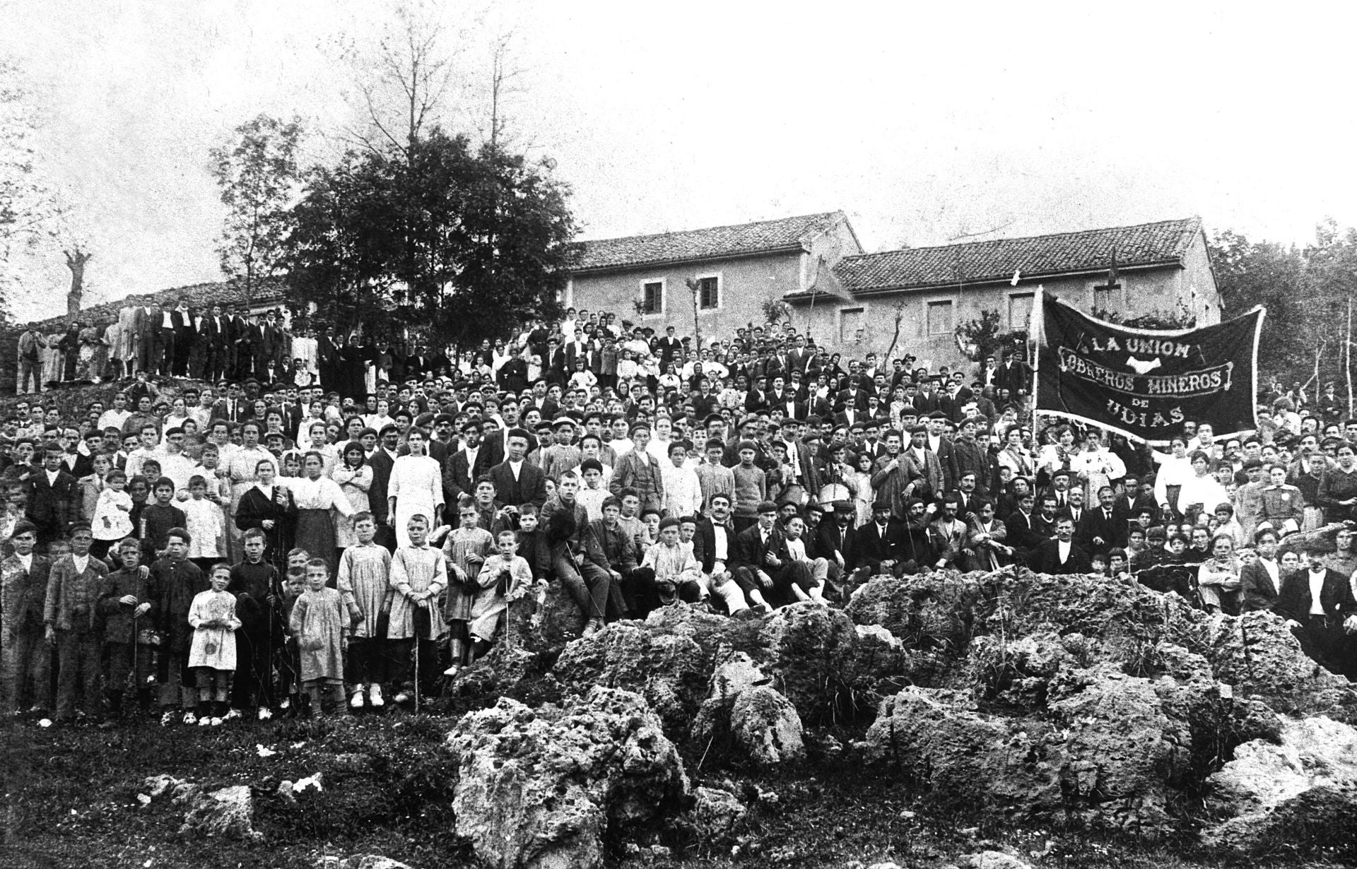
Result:
<instances>
[{"instance_id":1,"label":"pale overcast sky above the trees and rooftops","mask_svg":"<svg viewBox=\"0 0 1357 869\"><path fill-rule=\"evenodd\" d=\"M3 5L3 4L0 4ZM445 122L484 125L513 31L512 130L574 187L582 237L841 209L868 251L1200 214L1282 241L1357 222L1349 7L691 0L427 4ZM208 150L300 115L328 159L380 0L11 0L0 49L91 239L90 301L220 279ZM64 308L58 251L19 319Z\"/></svg>"}]
</instances>

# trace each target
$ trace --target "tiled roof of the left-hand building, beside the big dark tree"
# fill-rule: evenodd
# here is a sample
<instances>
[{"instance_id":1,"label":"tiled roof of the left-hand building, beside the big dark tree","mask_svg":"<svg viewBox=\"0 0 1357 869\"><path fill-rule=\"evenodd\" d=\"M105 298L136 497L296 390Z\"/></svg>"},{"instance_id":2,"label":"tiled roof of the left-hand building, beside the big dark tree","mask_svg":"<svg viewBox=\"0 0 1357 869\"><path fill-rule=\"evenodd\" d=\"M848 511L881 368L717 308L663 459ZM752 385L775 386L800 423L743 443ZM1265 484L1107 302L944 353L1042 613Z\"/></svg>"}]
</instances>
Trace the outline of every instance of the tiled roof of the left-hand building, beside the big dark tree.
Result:
<instances>
[{"instance_id":1,"label":"tiled roof of the left-hand building, beside the big dark tree","mask_svg":"<svg viewBox=\"0 0 1357 869\"><path fill-rule=\"evenodd\" d=\"M630 268L797 248L843 216L843 211L826 211L735 226L578 241L579 259L575 271Z\"/></svg>"}]
</instances>

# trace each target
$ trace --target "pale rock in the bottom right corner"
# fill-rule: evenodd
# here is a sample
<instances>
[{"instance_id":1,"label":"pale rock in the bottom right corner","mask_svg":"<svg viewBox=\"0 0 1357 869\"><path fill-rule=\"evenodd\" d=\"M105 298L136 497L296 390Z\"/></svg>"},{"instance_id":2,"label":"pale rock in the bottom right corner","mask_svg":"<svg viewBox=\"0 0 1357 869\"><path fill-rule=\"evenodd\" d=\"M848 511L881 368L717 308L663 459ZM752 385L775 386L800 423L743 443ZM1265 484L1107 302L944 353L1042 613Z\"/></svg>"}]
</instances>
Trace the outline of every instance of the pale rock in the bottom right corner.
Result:
<instances>
[{"instance_id":1,"label":"pale rock in the bottom right corner","mask_svg":"<svg viewBox=\"0 0 1357 869\"><path fill-rule=\"evenodd\" d=\"M1208 845L1244 853L1357 846L1357 731L1319 716L1282 724L1280 744L1250 742L1212 775L1212 804L1232 815Z\"/></svg>"}]
</instances>

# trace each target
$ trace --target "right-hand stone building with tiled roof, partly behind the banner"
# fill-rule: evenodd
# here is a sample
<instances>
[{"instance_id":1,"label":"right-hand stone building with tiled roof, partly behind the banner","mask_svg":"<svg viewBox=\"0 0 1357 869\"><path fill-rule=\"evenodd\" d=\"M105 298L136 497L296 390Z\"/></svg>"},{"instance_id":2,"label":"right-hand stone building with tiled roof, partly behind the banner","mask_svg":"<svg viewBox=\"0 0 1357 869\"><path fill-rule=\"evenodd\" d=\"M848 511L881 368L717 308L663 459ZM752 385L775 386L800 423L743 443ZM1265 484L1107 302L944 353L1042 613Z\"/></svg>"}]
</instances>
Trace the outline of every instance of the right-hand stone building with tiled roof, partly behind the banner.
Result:
<instances>
[{"instance_id":1,"label":"right-hand stone building with tiled roof, partly behind the banner","mask_svg":"<svg viewBox=\"0 0 1357 869\"><path fill-rule=\"evenodd\" d=\"M898 310L897 347L936 369L969 366L955 328L987 309L999 313L1001 328L1026 328L1038 287L1095 316L1220 321L1220 291L1197 217L844 256L832 274L787 301L795 325L855 357L889 347Z\"/></svg>"}]
</instances>

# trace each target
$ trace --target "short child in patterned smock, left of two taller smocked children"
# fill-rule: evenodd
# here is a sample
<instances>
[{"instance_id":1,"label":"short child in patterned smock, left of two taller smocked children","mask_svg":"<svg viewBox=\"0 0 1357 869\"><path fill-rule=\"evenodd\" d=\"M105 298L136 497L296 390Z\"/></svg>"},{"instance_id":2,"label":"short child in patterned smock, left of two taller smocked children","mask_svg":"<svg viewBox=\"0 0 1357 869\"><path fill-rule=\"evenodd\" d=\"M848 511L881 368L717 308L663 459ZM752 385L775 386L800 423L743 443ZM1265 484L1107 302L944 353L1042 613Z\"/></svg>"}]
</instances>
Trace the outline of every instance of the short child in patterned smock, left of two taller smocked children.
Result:
<instances>
[{"instance_id":1,"label":"short child in patterned smock, left of two taller smocked children","mask_svg":"<svg viewBox=\"0 0 1357 869\"><path fill-rule=\"evenodd\" d=\"M297 639L301 687L313 714L327 698L343 706L343 649L349 641L349 614L335 588L327 588L330 565L307 563L307 590L292 607L292 636Z\"/></svg>"}]
</instances>

